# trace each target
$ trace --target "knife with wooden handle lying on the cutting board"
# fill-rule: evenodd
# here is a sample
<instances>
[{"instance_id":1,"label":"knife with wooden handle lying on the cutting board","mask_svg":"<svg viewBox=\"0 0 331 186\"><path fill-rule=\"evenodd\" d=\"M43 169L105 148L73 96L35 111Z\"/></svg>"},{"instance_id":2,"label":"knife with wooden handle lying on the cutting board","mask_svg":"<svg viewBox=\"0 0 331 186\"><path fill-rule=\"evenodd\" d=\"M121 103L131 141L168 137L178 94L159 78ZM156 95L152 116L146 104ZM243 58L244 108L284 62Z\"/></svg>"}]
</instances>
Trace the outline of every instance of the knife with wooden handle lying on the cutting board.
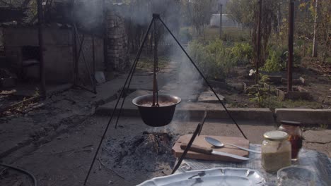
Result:
<instances>
[{"instance_id":1,"label":"knife with wooden handle lying on the cutting board","mask_svg":"<svg viewBox=\"0 0 331 186\"><path fill-rule=\"evenodd\" d=\"M181 149L185 149L186 147L187 147L187 144L185 144L185 143L180 144ZM209 155L214 154L214 155L218 155L218 156L228 156L228 157L231 157L233 159L249 160L249 158L246 158L246 157L243 157L243 156L238 156L238 155L226 153L226 152L223 152L223 151L214 151L213 149L209 149L207 147L200 147L200 146L197 146L195 144L192 144L192 146L190 148L190 151L196 151L196 152L200 152L200 153L203 153L203 154L209 154Z\"/></svg>"}]
</instances>

